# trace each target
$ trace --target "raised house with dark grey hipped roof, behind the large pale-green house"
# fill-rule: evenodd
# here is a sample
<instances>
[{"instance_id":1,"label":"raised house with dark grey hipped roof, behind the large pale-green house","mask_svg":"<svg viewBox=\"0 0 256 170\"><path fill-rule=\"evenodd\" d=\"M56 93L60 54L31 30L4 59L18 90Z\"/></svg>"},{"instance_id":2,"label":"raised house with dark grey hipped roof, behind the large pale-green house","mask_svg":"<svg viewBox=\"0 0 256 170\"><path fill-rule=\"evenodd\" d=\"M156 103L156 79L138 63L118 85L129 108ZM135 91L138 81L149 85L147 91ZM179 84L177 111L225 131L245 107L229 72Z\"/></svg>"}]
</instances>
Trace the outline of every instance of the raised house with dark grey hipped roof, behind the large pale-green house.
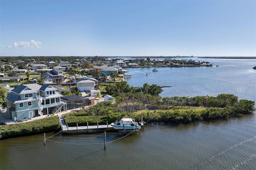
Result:
<instances>
[{"instance_id":1,"label":"raised house with dark grey hipped roof, behind the large pale-green house","mask_svg":"<svg viewBox=\"0 0 256 170\"><path fill-rule=\"evenodd\" d=\"M53 69L51 71L48 71L47 73L44 73L42 77L44 77L46 80L58 82L58 81L64 81L66 75L64 71L61 71L60 69Z\"/></svg>"}]
</instances>

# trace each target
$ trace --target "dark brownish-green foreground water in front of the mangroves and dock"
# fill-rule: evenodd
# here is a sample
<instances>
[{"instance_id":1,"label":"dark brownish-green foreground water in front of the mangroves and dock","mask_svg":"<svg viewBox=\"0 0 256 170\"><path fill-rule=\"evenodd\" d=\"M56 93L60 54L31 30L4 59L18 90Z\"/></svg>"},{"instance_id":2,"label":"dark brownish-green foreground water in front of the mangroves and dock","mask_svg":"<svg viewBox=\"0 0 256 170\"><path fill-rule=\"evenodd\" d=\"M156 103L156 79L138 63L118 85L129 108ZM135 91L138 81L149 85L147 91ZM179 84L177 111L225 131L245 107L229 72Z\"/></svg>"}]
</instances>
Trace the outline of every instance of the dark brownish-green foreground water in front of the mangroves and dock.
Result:
<instances>
[{"instance_id":1,"label":"dark brownish-green foreground water in front of the mangroves and dock","mask_svg":"<svg viewBox=\"0 0 256 170\"><path fill-rule=\"evenodd\" d=\"M0 164L1 169L250 170L256 162L255 128L255 114L187 125L152 123L124 138L122 132L106 132L106 150L104 133L57 134L45 146L38 134L1 140Z\"/></svg>"}]
</instances>

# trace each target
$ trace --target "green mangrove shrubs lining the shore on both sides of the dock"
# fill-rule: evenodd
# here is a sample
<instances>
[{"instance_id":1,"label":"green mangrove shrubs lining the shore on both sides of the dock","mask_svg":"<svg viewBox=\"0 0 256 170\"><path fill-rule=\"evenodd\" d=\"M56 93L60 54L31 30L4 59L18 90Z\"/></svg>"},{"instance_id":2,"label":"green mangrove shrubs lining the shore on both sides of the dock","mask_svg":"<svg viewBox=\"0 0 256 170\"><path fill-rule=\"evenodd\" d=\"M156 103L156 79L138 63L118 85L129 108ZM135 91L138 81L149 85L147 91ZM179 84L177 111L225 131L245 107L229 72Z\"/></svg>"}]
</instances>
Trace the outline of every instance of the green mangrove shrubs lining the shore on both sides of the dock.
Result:
<instances>
[{"instance_id":1,"label":"green mangrove shrubs lining the shore on both sides of the dock","mask_svg":"<svg viewBox=\"0 0 256 170\"><path fill-rule=\"evenodd\" d=\"M228 117L242 117L255 110L255 102L245 99L238 101L232 94L216 97L160 97L162 89L158 85L130 87L126 81L101 84L107 94L115 97L115 103L105 102L64 114L68 126L104 125L119 121L124 117L134 118L137 122L190 123L210 121ZM37 134L58 130L58 117L47 117L27 123L0 126L0 139Z\"/></svg>"}]
</instances>

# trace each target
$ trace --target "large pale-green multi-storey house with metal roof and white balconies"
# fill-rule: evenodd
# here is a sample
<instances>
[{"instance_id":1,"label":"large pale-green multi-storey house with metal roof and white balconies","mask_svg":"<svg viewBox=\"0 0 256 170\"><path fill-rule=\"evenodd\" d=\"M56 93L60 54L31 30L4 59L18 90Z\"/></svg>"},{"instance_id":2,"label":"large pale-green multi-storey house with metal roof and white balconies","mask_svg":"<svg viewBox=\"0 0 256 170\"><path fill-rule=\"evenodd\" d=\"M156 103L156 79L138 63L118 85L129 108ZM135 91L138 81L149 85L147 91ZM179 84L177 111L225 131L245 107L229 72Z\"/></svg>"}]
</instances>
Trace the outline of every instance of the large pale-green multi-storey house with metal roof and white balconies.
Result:
<instances>
[{"instance_id":1,"label":"large pale-green multi-storey house with metal roof and white balconies","mask_svg":"<svg viewBox=\"0 0 256 170\"><path fill-rule=\"evenodd\" d=\"M62 95L51 85L26 84L11 90L6 97L7 113L14 120L33 118L66 110Z\"/></svg>"}]
</instances>

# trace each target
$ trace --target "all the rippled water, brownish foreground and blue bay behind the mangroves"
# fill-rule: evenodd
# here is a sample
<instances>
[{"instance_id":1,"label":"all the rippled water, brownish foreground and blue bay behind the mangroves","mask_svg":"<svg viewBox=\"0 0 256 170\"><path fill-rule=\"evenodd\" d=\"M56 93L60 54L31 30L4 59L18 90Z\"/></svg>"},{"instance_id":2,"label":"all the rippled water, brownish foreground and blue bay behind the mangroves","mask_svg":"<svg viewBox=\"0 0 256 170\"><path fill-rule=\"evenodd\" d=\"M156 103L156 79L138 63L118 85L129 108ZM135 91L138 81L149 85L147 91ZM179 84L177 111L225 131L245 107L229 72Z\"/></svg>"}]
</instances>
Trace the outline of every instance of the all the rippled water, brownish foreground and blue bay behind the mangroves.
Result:
<instances>
[{"instance_id":1,"label":"all the rippled water, brownish foreground and blue bay behind the mangroves","mask_svg":"<svg viewBox=\"0 0 256 170\"><path fill-rule=\"evenodd\" d=\"M132 74L127 81L172 86L164 88L162 97L229 93L255 101L256 60L201 60L219 67L126 68ZM123 136L106 132L106 150L104 133L57 134L45 146L43 134L0 140L0 169L256 169L255 112L188 125L148 123L137 134Z\"/></svg>"}]
</instances>

